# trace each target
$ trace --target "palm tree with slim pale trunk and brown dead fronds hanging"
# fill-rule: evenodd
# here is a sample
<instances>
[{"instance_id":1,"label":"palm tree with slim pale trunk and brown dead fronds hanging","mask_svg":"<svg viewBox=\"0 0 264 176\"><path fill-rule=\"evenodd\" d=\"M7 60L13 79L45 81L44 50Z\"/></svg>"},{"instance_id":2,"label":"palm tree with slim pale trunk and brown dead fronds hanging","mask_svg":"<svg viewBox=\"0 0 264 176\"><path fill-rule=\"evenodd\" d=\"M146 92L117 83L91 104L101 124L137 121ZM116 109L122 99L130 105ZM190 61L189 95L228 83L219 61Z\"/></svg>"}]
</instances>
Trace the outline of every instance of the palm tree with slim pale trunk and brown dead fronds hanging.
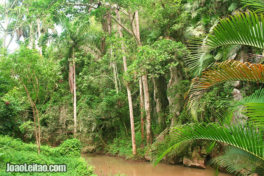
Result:
<instances>
[{"instance_id":1,"label":"palm tree with slim pale trunk and brown dead fronds hanging","mask_svg":"<svg viewBox=\"0 0 264 176\"><path fill-rule=\"evenodd\" d=\"M75 52L76 49L90 52L95 58L101 58L101 51L91 42L96 40L96 35L90 30L89 16L85 19L68 19L61 20L63 32L61 36L57 34L46 34L41 38L40 43L45 43L48 38L55 39L55 52L65 51L70 53L69 61L69 87L73 94L73 121L74 121L74 137L77 133L77 109L76 109L76 73L75 73Z\"/></svg>"}]
</instances>

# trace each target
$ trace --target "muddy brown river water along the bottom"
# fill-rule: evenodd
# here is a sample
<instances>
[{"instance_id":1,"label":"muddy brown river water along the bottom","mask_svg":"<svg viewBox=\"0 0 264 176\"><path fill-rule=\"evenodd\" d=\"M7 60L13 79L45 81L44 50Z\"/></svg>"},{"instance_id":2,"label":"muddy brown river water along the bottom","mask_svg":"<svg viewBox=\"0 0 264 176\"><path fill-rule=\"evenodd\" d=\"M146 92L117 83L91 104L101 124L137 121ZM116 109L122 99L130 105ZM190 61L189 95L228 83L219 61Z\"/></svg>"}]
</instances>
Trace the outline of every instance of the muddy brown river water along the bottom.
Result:
<instances>
[{"instance_id":1,"label":"muddy brown river water along the bottom","mask_svg":"<svg viewBox=\"0 0 264 176\"><path fill-rule=\"evenodd\" d=\"M91 165L95 166L95 174L126 174L128 176L210 176L211 169L196 169L184 167L182 164L170 165L159 163L154 168L150 162L131 163L120 157L111 157L100 154L82 154L86 160L91 158ZM219 176L231 176L220 172Z\"/></svg>"}]
</instances>

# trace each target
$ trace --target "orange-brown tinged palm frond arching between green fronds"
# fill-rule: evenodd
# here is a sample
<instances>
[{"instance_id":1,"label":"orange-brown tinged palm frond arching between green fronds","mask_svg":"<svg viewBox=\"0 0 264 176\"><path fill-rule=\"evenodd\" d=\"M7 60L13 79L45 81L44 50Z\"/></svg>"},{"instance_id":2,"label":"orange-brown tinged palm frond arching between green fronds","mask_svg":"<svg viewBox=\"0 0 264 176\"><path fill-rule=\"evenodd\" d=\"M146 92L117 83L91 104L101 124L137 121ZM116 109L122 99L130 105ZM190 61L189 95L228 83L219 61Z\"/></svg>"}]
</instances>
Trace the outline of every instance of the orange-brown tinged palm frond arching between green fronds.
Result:
<instances>
[{"instance_id":1,"label":"orange-brown tinged palm frond arching between green fronds","mask_svg":"<svg viewBox=\"0 0 264 176\"><path fill-rule=\"evenodd\" d=\"M206 69L201 78L196 77L191 81L189 90L185 93L187 103L185 107L190 110L191 115L197 120L197 109L202 95L214 85L226 81L254 81L264 82L264 65L241 63L239 61L224 61L216 63Z\"/></svg>"}]
</instances>

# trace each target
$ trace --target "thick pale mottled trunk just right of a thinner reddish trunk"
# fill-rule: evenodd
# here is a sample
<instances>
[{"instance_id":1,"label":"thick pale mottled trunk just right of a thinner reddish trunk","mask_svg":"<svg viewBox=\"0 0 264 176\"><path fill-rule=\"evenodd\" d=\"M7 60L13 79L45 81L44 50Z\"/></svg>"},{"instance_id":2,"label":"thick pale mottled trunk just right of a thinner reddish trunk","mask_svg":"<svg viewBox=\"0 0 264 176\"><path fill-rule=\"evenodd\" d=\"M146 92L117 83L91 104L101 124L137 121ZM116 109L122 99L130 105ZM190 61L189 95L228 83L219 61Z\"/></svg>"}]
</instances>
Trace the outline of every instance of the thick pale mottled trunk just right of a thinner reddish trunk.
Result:
<instances>
[{"instance_id":1,"label":"thick pale mottled trunk just right of a thinner reddish trunk","mask_svg":"<svg viewBox=\"0 0 264 176\"><path fill-rule=\"evenodd\" d=\"M152 135L151 135L151 117L150 117L150 102L149 102L149 86L147 75L142 76L142 83L144 89L144 102L145 102L145 112L146 112L146 136L147 145L152 145Z\"/></svg>"}]
</instances>

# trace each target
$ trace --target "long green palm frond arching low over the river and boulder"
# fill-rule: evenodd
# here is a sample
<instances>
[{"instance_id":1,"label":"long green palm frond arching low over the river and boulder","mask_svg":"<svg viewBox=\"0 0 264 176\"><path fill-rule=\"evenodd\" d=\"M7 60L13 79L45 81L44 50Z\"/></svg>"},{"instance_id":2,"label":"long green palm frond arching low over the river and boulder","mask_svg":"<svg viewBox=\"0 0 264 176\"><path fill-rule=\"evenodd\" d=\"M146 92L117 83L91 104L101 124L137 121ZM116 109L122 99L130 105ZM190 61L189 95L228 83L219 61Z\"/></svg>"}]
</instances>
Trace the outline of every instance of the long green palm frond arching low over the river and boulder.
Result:
<instances>
[{"instance_id":1,"label":"long green palm frond arching low over the river and boulder","mask_svg":"<svg viewBox=\"0 0 264 176\"><path fill-rule=\"evenodd\" d=\"M150 158L155 166L171 150L176 150L183 142L206 139L223 142L233 147L249 152L260 160L264 160L264 141L261 133L256 133L256 127L247 124L232 124L229 128L217 123L184 124L169 128L155 139L151 147Z\"/></svg>"}]
</instances>

